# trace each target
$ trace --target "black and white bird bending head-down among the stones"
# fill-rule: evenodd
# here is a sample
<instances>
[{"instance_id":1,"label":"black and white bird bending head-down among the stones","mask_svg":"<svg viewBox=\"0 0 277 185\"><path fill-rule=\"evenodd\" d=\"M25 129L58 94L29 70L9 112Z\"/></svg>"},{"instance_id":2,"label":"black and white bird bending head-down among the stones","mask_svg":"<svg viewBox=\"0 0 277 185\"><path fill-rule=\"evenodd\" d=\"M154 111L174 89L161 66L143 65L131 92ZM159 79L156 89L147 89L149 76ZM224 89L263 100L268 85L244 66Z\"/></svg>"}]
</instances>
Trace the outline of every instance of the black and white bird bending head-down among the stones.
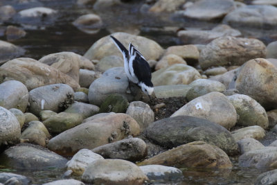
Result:
<instances>
[{"instance_id":1,"label":"black and white bird bending head-down among the stones","mask_svg":"<svg viewBox=\"0 0 277 185\"><path fill-rule=\"evenodd\" d=\"M110 37L123 55L124 69L129 81L141 87L141 90L150 96L154 87L151 82L152 75L148 62L131 43L129 44L129 51L127 51L118 39L113 36Z\"/></svg>"}]
</instances>

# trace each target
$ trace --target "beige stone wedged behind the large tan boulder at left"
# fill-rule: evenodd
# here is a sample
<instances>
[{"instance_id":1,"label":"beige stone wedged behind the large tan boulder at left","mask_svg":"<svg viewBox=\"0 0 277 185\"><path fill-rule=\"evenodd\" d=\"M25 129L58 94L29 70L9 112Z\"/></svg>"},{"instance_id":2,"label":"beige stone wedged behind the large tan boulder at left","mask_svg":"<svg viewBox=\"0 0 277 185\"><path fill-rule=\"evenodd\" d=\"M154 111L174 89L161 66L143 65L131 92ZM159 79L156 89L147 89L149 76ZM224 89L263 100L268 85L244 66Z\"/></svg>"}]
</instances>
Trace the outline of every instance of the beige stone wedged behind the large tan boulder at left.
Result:
<instances>
[{"instance_id":1,"label":"beige stone wedged behind the large tan boulder at left","mask_svg":"<svg viewBox=\"0 0 277 185\"><path fill-rule=\"evenodd\" d=\"M53 53L39 59L39 62L60 70L76 82L79 82L80 61L80 55L73 52Z\"/></svg>"}]
</instances>

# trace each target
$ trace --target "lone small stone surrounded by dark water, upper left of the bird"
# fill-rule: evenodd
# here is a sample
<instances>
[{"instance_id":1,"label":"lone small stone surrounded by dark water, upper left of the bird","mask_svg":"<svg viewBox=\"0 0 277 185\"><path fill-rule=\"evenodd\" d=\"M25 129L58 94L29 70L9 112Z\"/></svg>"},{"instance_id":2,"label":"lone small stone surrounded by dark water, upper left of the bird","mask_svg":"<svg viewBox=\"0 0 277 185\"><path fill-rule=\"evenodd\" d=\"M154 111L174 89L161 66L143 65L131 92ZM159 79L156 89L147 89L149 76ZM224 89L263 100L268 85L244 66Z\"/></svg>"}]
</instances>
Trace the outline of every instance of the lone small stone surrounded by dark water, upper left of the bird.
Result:
<instances>
[{"instance_id":1,"label":"lone small stone surrounded by dark water, upper left of the bird","mask_svg":"<svg viewBox=\"0 0 277 185\"><path fill-rule=\"evenodd\" d=\"M82 32L88 34L98 33L103 26L101 17L92 13L78 17L72 24Z\"/></svg>"}]
</instances>

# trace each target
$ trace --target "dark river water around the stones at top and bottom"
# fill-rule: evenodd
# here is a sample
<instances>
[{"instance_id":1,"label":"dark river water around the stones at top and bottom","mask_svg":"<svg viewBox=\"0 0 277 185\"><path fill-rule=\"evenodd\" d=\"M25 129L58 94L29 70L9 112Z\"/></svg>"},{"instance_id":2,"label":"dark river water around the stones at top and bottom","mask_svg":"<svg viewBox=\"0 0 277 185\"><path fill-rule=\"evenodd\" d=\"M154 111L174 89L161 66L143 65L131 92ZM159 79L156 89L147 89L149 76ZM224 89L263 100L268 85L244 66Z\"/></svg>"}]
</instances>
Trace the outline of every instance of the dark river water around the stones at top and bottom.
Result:
<instances>
[{"instance_id":1,"label":"dark river water around the stones at top and bottom","mask_svg":"<svg viewBox=\"0 0 277 185\"><path fill-rule=\"evenodd\" d=\"M26 49L24 57L39 59L50 53L61 51L73 51L83 55L89 47L101 37L109 35L115 31L132 30L150 39L154 39L161 46L183 44L177 37L177 30L184 28L199 28L203 30L211 29L220 21L200 22L186 20L180 17L171 17L170 15L150 16L147 13L140 12L139 8L143 1L131 1L124 6L115 6L107 10L95 11L92 5L78 5L74 0L60 1L27 1L19 3L19 0L0 0L1 5L12 5L17 11L26 8L44 6L58 10L58 15L52 23L35 24L32 28L24 27L26 37L12 41L13 44ZM89 35L75 28L71 22L78 16L87 13L96 13L100 15L104 26L97 34ZM21 27L16 19L0 23L0 30L8 25ZM256 37L265 44L277 40L274 30L252 28L240 29L244 37ZM5 36L0 37L6 40ZM1 160L1 159L0 159ZM252 168L242 169L238 167L238 159L232 158L233 168L231 170L195 170L182 169L184 180L182 182L172 182L172 184L253 184L256 177L264 172ZM33 180L33 184L43 184L56 179L62 179L65 169L48 169L42 171L28 172L20 170L7 169L0 166L0 171L12 172L26 175ZM80 177L75 177L78 179Z\"/></svg>"}]
</instances>

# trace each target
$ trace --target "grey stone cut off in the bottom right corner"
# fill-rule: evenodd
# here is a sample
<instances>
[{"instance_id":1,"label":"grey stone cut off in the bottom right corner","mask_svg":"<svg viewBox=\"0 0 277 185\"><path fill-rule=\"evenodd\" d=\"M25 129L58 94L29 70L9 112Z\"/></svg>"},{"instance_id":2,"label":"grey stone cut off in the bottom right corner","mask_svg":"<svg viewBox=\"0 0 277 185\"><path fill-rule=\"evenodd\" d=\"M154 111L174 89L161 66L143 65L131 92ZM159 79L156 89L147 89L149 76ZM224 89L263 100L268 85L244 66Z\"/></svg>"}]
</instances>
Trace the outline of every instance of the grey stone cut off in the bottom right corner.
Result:
<instances>
[{"instance_id":1,"label":"grey stone cut off in the bottom right corner","mask_svg":"<svg viewBox=\"0 0 277 185\"><path fill-rule=\"evenodd\" d=\"M277 184L277 170L271 170L259 175L256 179L255 185L264 185L264 184Z\"/></svg>"}]
</instances>

